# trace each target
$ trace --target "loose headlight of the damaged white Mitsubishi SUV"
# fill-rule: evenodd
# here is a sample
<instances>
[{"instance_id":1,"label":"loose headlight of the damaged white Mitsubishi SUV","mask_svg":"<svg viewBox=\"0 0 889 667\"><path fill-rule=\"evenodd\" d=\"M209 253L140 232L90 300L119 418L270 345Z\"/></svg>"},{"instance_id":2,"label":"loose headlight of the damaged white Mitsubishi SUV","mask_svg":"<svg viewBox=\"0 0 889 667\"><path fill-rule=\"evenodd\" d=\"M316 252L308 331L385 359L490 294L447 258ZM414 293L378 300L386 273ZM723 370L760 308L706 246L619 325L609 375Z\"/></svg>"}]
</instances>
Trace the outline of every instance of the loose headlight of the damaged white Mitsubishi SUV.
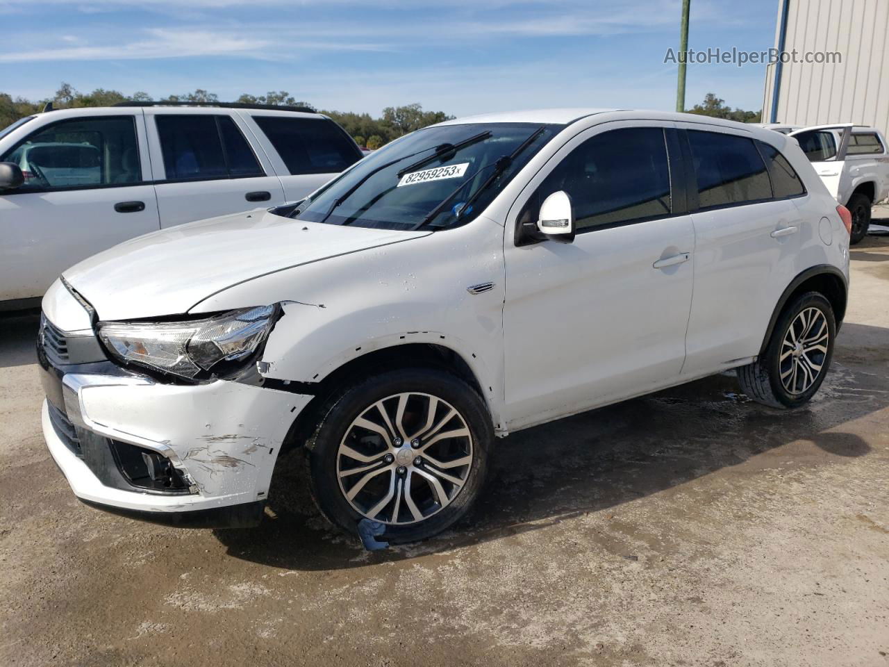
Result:
<instances>
[{"instance_id":1,"label":"loose headlight of the damaged white Mitsubishi SUV","mask_svg":"<svg viewBox=\"0 0 889 667\"><path fill-rule=\"evenodd\" d=\"M99 337L121 361L193 379L248 358L265 341L276 306L231 310L190 322L103 322Z\"/></svg>"}]
</instances>

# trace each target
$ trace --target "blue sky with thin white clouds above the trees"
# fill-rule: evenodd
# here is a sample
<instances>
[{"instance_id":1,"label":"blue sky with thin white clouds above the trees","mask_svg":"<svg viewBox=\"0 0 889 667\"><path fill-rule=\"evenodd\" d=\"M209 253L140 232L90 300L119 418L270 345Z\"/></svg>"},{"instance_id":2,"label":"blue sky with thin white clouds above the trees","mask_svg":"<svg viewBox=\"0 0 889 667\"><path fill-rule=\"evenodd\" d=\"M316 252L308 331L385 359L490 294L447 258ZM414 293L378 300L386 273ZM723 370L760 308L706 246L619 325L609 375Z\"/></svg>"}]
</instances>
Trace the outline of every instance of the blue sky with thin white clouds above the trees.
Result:
<instances>
[{"instance_id":1,"label":"blue sky with thin white clouds above the trees","mask_svg":"<svg viewBox=\"0 0 889 667\"><path fill-rule=\"evenodd\" d=\"M286 90L318 108L419 101L457 116L511 108L672 109L680 0L4 0L0 92L61 81L221 100ZM692 0L689 46L762 51L776 0ZM762 106L764 65L689 65L686 104Z\"/></svg>"}]
</instances>

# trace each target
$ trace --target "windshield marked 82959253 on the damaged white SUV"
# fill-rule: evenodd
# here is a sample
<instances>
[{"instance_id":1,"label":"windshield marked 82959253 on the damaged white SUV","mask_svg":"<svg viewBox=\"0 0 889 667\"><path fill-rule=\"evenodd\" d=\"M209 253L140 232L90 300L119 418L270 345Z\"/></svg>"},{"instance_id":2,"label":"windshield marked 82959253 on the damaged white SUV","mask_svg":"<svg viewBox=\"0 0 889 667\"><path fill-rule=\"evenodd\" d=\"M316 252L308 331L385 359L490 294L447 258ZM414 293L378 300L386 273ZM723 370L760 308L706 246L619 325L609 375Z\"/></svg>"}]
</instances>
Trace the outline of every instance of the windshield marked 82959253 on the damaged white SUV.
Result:
<instances>
[{"instance_id":1,"label":"windshield marked 82959253 on the damaged white SUV","mask_svg":"<svg viewBox=\"0 0 889 667\"><path fill-rule=\"evenodd\" d=\"M447 229L485 209L562 129L529 123L443 125L365 157L292 213L373 229Z\"/></svg>"}]
</instances>

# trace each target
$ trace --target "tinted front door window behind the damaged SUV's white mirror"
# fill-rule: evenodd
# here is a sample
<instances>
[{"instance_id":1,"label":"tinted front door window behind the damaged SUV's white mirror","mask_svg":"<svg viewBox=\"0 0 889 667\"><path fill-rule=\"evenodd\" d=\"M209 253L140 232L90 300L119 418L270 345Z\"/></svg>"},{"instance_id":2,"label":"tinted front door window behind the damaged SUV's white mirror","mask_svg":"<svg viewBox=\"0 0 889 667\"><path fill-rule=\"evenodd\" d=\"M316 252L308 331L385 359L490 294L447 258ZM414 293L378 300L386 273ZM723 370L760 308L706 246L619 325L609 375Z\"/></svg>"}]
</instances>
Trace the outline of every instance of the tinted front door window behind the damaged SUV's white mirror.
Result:
<instances>
[{"instance_id":1,"label":"tinted front door window behind the damaged SUV's white mirror","mask_svg":"<svg viewBox=\"0 0 889 667\"><path fill-rule=\"evenodd\" d=\"M571 197L579 231L669 215L663 130L635 127L591 137L541 183L535 205L558 190Z\"/></svg>"}]
</instances>

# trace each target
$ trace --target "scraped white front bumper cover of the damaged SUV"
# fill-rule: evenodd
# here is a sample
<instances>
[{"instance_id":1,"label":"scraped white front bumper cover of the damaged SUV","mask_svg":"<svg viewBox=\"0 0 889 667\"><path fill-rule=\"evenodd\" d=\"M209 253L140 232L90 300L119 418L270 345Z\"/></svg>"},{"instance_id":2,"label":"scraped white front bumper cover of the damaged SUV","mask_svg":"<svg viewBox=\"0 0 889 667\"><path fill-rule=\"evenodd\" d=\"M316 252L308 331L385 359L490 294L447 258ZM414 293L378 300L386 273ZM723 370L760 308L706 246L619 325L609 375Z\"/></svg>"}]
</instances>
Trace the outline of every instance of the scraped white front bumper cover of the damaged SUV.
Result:
<instances>
[{"instance_id":1,"label":"scraped white front bumper cover of the damaged SUV","mask_svg":"<svg viewBox=\"0 0 889 667\"><path fill-rule=\"evenodd\" d=\"M222 380L43 373L44 438L76 496L177 526L257 523L287 430L312 398Z\"/></svg>"}]
</instances>

